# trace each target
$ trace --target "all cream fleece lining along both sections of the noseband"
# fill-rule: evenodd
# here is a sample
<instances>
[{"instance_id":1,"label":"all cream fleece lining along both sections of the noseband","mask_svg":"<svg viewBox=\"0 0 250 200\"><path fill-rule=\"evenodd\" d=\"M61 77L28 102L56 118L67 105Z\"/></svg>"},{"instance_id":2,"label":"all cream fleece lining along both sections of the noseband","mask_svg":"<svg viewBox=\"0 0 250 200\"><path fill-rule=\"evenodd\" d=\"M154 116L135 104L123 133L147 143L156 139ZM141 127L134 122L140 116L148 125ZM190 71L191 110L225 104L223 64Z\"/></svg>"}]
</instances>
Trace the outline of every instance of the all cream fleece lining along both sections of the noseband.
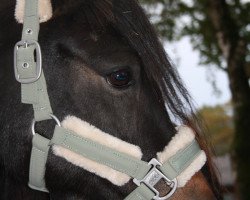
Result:
<instances>
[{"instance_id":1,"label":"all cream fleece lining along both sections of the noseband","mask_svg":"<svg viewBox=\"0 0 250 200\"><path fill-rule=\"evenodd\" d=\"M122 141L114 136L102 132L89 123L81 119L68 116L62 122L62 126L68 130L74 131L82 137L86 137L102 145L113 148L117 151L126 153L141 159L142 152L140 147ZM170 143L164 148L162 152L157 153L157 158L161 163L164 163L171 156L175 155L180 149L183 149L187 144L192 142L195 138L192 129L181 126L177 129L177 134L172 138ZM109 180L111 183L122 186L126 184L130 177L124 173L116 171L108 166L94 162L87 159L69 149L59 145L53 146L55 155L65 158L68 162L79 166L91 173L94 173L102 178ZM199 171L206 162L206 155L201 151L194 161L179 175L177 176L178 187L183 187L192 178L192 176Z\"/></svg>"}]
</instances>

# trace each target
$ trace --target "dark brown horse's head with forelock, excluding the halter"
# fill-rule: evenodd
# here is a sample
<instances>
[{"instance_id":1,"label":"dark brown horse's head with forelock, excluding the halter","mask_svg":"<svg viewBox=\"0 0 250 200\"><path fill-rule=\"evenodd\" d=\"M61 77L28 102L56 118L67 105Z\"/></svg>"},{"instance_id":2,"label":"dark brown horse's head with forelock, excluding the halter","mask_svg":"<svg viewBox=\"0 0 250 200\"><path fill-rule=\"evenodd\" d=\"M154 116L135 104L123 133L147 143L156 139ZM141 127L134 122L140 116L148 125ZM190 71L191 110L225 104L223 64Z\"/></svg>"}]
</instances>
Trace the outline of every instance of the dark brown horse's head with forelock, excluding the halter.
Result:
<instances>
[{"instance_id":1,"label":"dark brown horse's head with forelock, excluding the halter","mask_svg":"<svg viewBox=\"0 0 250 200\"><path fill-rule=\"evenodd\" d=\"M0 10L0 197L47 199L26 186L33 114L31 106L20 105L20 86L13 76L12 48L21 33L14 4L6 1ZM136 1L55 0L53 7L53 18L41 25L39 42L52 108L60 120L74 115L136 144L146 161L175 134L170 115L192 125L187 92ZM51 122L37 126L47 138L52 130ZM133 189L132 183L116 187L52 152L45 178L52 199L122 199ZM187 188L179 191L179 199L210 193L201 174Z\"/></svg>"}]
</instances>

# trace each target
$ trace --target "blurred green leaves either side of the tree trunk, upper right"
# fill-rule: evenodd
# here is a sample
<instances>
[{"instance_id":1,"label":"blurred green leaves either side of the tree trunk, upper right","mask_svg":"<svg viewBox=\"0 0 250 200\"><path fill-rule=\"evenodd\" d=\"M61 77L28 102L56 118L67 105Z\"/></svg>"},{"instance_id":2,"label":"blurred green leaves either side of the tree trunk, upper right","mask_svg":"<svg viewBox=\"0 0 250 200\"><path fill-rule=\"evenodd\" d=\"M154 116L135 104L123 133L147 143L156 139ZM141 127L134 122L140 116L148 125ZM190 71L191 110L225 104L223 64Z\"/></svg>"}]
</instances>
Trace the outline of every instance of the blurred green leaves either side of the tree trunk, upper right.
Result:
<instances>
[{"instance_id":1,"label":"blurred green leaves either side of the tree trunk, upper right","mask_svg":"<svg viewBox=\"0 0 250 200\"><path fill-rule=\"evenodd\" d=\"M140 2L161 37L167 41L177 41L183 36L189 36L194 49L200 52L201 64L213 64L220 69L226 69L223 53L216 38L216 30L209 17L208 0L140 0ZM240 0L226 2L232 18L230 22L226 20L223 22L230 30L228 34L239 33L249 44L250 2L243 3ZM247 54L250 55L250 46ZM249 62L250 56L246 59Z\"/></svg>"}]
</instances>

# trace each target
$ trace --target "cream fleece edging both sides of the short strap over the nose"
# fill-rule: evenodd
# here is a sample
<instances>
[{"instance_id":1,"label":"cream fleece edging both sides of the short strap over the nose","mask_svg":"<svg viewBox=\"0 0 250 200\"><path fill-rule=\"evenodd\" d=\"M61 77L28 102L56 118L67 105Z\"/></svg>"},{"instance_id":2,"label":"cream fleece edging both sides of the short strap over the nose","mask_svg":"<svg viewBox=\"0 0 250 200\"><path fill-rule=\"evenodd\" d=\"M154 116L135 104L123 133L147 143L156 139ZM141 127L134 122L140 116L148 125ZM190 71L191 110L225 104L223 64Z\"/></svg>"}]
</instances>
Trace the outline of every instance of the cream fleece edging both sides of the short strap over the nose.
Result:
<instances>
[{"instance_id":1,"label":"cream fleece edging both sides of the short strap over the nose","mask_svg":"<svg viewBox=\"0 0 250 200\"><path fill-rule=\"evenodd\" d=\"M193 130L187 126L180 126L177 128L177 134L172 138L169 144L162 152L157 153L157 158L161 163L167 161L171 156L177 153L180 149L186 147L195 139ZM198 172L206 163L206 154L202 150L201 153L194 159L194 161L176 177L178 187L184 187L192 176Z\"/></svg>"}]
</instances>

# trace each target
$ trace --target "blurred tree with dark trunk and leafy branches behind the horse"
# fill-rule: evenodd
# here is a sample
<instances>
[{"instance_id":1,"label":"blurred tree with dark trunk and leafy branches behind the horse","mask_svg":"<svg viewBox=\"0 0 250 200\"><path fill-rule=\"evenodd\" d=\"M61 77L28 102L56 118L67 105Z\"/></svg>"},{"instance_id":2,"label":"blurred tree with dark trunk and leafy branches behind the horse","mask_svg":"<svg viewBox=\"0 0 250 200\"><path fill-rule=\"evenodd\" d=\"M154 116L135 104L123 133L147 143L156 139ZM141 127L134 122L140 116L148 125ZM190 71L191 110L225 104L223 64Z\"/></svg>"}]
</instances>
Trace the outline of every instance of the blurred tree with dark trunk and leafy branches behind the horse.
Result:
<instances>
[{"instance_id":1,"label":"blurred tree with dark trunk and leafy branches behind the horse","mask_svg":"<svg viewBox=\"0 0 250 200\"><path fill-rule=\"evenodd\" d=\"M203 65L229 79L234 116L238 191L250 199L250 2L247 0L141 0L161 36L190 36Z\"/></svg>"}]
</instances>

